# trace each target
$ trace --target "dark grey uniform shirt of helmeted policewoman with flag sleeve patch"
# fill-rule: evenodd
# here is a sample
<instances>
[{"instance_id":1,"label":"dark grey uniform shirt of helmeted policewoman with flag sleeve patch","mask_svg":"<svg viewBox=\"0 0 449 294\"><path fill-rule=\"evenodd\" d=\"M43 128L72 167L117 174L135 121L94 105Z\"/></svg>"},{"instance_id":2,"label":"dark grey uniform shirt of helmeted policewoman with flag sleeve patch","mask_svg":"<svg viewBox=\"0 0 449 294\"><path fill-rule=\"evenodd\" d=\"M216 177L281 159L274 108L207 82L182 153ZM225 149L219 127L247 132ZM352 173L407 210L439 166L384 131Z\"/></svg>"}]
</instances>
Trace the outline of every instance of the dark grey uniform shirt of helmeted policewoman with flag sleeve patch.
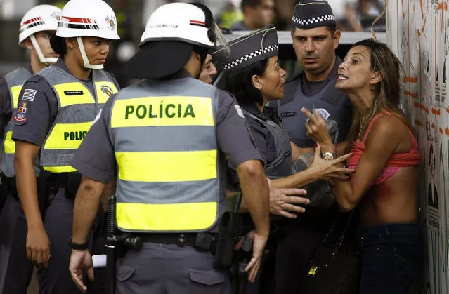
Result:
<instances>
[{"instance_id":1,"label":"dark grey uniform shirt of helmeted policewoman with flag sleeve patch","mask_svg":"<svg viewBox=\"0 0 449 294\"><path fill-rule=\"evenodd\" d=\"M65 65L62 58L58 58L55 64L56 67L64 69L69 74L72 74L70 70ZM106 72L110 79L115 83L117 89L119 85L112 74ZM91 93L96 93L93 88L92 79L83 80L79 79L81 83L86 86ZM30 142L34 145L41 146L44 144L46 135L53 126L56 119L56 114L58 114L58 98L56 97L53 89L48 84L48 82L39 73L32 76L22 88L19 95L18 106L21 105L22 95L25 89L32 89L36 91L32 101L27 100L27 112L25 113L25 122L14 121L13 129L13 140L22 140L25 142Z\"/></svg>"}]
</instances>

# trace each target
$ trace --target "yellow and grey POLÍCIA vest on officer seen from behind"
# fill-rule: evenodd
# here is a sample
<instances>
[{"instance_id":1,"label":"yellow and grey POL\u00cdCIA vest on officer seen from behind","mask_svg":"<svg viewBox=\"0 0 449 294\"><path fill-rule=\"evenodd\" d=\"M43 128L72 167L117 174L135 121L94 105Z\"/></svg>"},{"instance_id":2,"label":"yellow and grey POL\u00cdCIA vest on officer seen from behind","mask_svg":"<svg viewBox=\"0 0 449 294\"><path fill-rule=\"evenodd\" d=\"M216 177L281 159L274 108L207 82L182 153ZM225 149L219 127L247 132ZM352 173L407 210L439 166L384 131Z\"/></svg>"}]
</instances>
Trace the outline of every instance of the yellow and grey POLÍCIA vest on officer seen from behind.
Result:
<instances>
[{"instance_id":1,"label":"yellow and grey POL\u00cdCIA vest on officer seen from behind","mask_svg":"<svg viewBox=\"0 0 449 294\"><path fill-rule=\"evenodd\" d=\"M119 229L200 232L215 225L224 194L214 91L196 79L180 79L143 81L117 94L110 136Z\"/></svg>"}]
</instances>

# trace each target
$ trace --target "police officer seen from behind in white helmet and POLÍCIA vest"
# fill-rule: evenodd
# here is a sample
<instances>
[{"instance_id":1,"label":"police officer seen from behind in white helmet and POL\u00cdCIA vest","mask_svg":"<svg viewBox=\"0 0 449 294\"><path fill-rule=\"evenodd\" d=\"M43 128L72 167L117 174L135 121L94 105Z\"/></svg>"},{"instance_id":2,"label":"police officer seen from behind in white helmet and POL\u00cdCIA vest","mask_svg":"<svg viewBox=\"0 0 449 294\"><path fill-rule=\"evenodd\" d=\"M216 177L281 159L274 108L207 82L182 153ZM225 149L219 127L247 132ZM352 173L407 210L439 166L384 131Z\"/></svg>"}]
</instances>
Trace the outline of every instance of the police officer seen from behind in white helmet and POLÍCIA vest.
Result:
<instances>
[{"instance_id":1,"label":"police officer seen from behind in white helmet and POL\u00cdCIA vest","mask_svg":"<svg viewBox=\"0 0 449 294\"><path fill-rule=\"evenodd\" d=\"M268 185L235 98L198 80L217 40L228 47L206 6L157 8L124 67L143 81L106 103L75 153L83 180L69 269L82 290L89 291L81 278L83 270L91 274L92 259L77 246L87 241L105 184L117 177L117 228L143 247L118 258L116 293L232 293L228 269L215 268L220 256L212 254L227 160L237 166L256 227L247 267L254 281L268 238Z\"/></svg>"}]
</instances>

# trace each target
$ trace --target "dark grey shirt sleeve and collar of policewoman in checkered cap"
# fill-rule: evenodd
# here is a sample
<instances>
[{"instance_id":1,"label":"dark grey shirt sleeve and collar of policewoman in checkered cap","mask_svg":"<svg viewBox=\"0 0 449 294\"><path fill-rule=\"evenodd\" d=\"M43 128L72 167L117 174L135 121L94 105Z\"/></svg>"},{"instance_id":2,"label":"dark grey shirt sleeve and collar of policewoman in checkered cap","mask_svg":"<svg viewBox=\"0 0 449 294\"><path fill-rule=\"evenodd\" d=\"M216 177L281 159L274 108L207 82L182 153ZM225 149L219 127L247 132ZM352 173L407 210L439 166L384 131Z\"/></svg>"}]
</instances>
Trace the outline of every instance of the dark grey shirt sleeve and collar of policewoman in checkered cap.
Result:
<instances>
[{"instance_id":1,"label":"dark grey shirt sleeve and collar of policewoman in checkered cap","mask_svg":"<svg viewBox=\"0 0 449 294\"><path fill-rule=\"evenodd\" d=\"M254 116L257 116L263 120L271 119L272 121L275 121L275 118L273 118L273 115L270 115L269 112L271 111L271 107L265 107L264 111L261 112L259 108L256 107L254 104L240 104L241 107L245 108L248 112L251 114L254 114ZM275 140L273 138L273 135L271 132L264 126L260 121L257 121L256 119L252 119L251 117L247 117L247 126L249 129L249 133L251 134L251 138L254 141L254 145L256 145L256 149L259 152L263 163L272 162L276 157L276 146L275 146ZM239 182L237 171L235 170L235 167L232 165L228 165L229 168L229 176L230 180L233 185L237 185Z\"/></svg>"}]
</instances>

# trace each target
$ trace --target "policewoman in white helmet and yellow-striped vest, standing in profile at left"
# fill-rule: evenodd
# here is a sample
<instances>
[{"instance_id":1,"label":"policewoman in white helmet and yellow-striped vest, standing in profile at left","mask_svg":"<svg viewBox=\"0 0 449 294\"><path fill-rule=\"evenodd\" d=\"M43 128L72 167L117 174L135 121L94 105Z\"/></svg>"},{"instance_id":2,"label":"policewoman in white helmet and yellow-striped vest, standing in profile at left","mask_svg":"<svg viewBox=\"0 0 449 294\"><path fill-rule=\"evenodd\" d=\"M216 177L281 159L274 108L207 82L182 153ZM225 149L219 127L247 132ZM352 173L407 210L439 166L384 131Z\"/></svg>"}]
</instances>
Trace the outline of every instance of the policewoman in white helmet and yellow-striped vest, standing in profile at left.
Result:
<instances>
[{"instance_id":1,"label":"policewoman in white helmet and yellow-striped vest, standing in profile at left","mask_svg":"<svg viewBox=\"0 0 449 294\"><path fill-rule=\"evenodd\" d=\"M70 160L100 109L117 92L114 77L101 69L108 41L118 38L115 14L108 4L69 1L51 37L51 46L60 58L32 76L19 95L13 119L14 167L28 227L24 254L39 267L41 294L77 290L67 272L67 241L81 175L70 166ZM37 157L39 196L44 195L45 201L37 197L33 171Z\"/></svg>"}]
</instances>

